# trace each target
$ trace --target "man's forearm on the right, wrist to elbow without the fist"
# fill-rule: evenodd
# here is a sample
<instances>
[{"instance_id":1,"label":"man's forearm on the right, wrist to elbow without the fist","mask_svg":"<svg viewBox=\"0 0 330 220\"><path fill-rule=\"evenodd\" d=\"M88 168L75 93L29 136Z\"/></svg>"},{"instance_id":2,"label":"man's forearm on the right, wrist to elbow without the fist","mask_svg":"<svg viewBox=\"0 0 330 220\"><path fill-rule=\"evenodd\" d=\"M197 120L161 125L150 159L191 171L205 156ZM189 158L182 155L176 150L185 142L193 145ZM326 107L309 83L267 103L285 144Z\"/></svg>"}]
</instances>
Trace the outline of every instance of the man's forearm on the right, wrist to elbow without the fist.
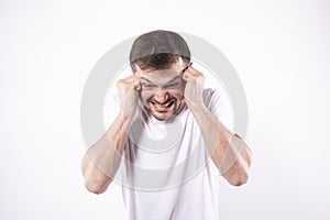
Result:
<instances>
[{"instance_id":1,"label":"man's forearm on the right, wrist to elbow without the fist","mask_svg":"<svg viewBox=\"0 0 330 220\"><path fill-rule=\"evenodd\" d=\"M251 164L251 151L244 141L232 134L205 105L190 105L188 108L220 174L232 185L244 184Z\"/></svg>"}]
</instances>

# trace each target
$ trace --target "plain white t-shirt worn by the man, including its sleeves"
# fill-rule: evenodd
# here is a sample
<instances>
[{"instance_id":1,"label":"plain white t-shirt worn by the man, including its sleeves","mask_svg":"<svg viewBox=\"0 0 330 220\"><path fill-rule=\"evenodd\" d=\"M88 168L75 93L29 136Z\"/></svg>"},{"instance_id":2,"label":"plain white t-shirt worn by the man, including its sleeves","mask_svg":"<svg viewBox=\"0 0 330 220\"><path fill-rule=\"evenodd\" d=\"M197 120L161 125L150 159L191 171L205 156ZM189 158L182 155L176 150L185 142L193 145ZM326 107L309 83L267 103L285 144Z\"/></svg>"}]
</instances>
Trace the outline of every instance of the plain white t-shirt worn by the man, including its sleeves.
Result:
<instances>
[{"instance_id":1,"label":"plain white t-shirt worn by the man, including its sleeves","mask_svg":"<svg viewBox=\"0 0 330 220\"><path fill-rule=\"evenodd\" d=\"M233 114L227 96L205 89L204 100L232 131ZM114 178L122 184L128 219L218 220L219 178L187 108L170 122L158 121L139 108Z\"/></svg>"}]
</instances>

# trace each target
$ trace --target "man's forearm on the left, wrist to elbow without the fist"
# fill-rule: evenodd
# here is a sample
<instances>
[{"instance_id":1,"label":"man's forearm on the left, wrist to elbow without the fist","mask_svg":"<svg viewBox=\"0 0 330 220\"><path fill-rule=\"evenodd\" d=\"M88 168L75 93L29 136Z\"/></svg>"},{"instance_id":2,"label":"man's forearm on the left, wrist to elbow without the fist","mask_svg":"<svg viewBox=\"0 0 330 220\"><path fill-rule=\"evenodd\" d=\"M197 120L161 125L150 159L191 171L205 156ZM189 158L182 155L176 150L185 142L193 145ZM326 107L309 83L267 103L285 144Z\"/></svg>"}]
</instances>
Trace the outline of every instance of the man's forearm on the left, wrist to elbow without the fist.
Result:
<instances>
[{"instance_id":1,"label":"man's forearm on the left, wrist to elbow without the fist","mask_svg":"<svg viewBox=\"0 0 330 220\"><path fill-rule=\"evenodd\" d=\"M89 191L101 194L113 179L120 166L129 123L130 120L122 114L117 117L105 135L85 154L81 172Z\"/></svg>"}]
</instances>

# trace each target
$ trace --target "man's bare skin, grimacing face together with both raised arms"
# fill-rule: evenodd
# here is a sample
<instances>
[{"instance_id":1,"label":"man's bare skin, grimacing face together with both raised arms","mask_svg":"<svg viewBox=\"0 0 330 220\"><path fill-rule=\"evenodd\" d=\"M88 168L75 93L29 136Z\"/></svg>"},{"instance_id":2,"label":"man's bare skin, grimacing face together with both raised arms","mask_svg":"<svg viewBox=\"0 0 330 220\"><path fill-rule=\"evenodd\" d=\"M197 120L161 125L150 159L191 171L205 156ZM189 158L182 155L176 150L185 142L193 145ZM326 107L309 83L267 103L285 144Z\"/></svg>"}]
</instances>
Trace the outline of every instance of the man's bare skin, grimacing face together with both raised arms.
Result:
<instances>
[{"instance_id":1,"label":"man's bare skin, grimacing face together with both raised arms","mask_svg":"<svg viewBox=\"0 0 330 220\"><path fill-rule=\"evenodd\" d=\"M135 114L139 99L158 120L175 117L184 105L200 128L207 150L220 174L233 186L246 183L252 154L244 141L232 134L208 110L202 100L205 77L191 64L177 62L164 72L138 70L118 81L120 113L106 134L81 161L86 188L95 194L107 190L121 162L127 129Z\"/></svg>"}]
</instances>

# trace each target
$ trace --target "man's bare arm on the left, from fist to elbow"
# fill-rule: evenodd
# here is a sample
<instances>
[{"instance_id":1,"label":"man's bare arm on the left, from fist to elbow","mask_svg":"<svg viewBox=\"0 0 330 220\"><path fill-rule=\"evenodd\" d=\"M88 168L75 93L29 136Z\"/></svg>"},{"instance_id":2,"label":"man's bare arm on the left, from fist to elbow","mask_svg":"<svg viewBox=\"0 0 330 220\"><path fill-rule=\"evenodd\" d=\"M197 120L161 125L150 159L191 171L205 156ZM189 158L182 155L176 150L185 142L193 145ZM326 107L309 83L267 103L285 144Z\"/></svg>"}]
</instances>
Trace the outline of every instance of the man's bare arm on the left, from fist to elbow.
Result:
<instances>
[{"instance_id":1,"label":"man's bare arm on the left, from fist to elbow","mask_svg":"<svg viewBox=\"0 0 330 220\"><path fill-rule=\"evenodd\" d=\"M94 194L107 190L120 166L128 129L138 107L138 87L139 78L135 75L119 80L120 113L105 135L82 157L85 186Z\"/></svg>"}]
</instances>

